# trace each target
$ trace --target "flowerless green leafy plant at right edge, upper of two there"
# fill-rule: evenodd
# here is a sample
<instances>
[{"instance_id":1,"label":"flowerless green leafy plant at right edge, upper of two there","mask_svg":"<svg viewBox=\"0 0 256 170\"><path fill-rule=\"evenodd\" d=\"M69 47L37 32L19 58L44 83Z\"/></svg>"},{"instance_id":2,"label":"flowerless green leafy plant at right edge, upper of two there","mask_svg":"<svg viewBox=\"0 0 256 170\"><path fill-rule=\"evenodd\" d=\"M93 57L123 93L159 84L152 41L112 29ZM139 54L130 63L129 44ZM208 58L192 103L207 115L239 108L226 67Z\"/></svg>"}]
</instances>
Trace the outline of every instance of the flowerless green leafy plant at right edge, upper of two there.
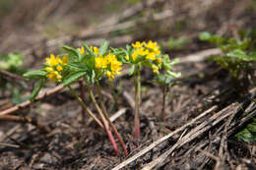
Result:
<instances>
[{"instance_id":1,"label":"flowerless green leafy plant at right edge, upper of two there","mask_svg":"<svg viewBox=\"0 0 256 170\"><path fill-rule=\"evenodd\" d=\"M252 33L253 31L240 31L239 39L234 39L202 32L199 38L214 43L223 50L224 55L214 57L213 60L226 69L235 83L238 83L239 79L248 81L248 76L253 74L253 63L256 61L256 38Z\"/></svg>"}]
</instances>

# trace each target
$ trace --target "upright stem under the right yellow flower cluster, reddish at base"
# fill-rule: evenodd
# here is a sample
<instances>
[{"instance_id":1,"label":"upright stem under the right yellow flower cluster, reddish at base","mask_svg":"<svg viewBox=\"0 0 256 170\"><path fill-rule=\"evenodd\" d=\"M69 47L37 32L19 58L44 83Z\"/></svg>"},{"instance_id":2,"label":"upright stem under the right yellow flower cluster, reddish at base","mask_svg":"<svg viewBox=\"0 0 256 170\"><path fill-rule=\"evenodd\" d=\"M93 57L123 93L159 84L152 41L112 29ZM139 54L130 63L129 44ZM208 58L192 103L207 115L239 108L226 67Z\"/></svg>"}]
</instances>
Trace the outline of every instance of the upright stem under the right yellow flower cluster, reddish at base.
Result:
<instances>
[{"instance_id":1,"label":"upright stem under the right yellow flower cluster, reddish at base","mask_svg":"<svg viewBox=\"0 0 256 170\"><path fill-rule=\"evenodd\" d=\"M134 138L139 140L141 137L140 130L140 104L141 104L141 67L136 66L135 84L135 113L134 113Z\"/></svg>"}]
</instances>

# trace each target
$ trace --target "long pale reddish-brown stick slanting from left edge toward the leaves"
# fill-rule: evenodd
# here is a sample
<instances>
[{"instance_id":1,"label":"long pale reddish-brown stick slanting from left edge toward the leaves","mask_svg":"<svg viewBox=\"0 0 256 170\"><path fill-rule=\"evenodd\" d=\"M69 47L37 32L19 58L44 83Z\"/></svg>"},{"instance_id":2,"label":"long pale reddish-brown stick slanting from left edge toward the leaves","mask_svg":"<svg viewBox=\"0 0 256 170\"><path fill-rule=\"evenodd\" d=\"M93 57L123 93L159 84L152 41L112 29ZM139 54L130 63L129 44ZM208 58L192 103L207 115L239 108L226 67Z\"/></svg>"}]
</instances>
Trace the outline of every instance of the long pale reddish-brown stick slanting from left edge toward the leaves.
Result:
<instances>
[{"instance_id":1,"label":"long pale reddish-brown stick slanting from left edge toward the leaves","mask_svg":"<svg viewBox=\"0 0 256 170\"><path fill-rule=\"evenodd\" d=\"M41 100L42 98L46 97L46 96L50 96L52 94L55 94L56 92L60 91L61 89L63 88L63 85L58 85L56 87L54 87L53 89L51 90L48 90L46 92L43 92L41 94L39 94L34 101L38 101L38 100ZM21 104L18 104L14 107L11 107L10 109L7 109L7 110L4 110L2 112L0 112L0 116L3 116L3 115L8 115L8 114L12 114L20 109L23 109L25 107L28 107L32 104L32 102L30 100L27 100L25 102L22 102Z\"/></svg>"}]
</instances>

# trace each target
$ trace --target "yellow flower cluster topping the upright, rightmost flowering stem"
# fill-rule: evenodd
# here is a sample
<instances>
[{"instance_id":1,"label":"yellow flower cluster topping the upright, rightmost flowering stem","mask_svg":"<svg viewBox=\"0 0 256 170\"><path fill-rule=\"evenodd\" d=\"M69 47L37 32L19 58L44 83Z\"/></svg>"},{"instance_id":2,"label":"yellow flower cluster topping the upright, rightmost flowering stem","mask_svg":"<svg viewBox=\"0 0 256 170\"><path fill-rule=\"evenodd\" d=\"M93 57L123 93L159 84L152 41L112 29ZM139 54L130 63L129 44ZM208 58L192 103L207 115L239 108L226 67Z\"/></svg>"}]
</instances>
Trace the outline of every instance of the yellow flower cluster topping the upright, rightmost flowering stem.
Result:
<instances>
[{"instance_id":1,"label":"yellow flower cluster topping the upright, rightmost flowering stem","mask_svg":"<svg viewBox=\"0 0 256 170\"><path fill-rule=\"evenodd\" d=\"M148 43L136 41L135 43L132 43L132 46L135 48L134 53L132 54L133 61L141 55L145 56L147 60L155 61L158 59L158 62L160 62L160 59L157 57L160 55L160 46L157 42L152 42L151 40Z\"/></svg>"}]
</instances>

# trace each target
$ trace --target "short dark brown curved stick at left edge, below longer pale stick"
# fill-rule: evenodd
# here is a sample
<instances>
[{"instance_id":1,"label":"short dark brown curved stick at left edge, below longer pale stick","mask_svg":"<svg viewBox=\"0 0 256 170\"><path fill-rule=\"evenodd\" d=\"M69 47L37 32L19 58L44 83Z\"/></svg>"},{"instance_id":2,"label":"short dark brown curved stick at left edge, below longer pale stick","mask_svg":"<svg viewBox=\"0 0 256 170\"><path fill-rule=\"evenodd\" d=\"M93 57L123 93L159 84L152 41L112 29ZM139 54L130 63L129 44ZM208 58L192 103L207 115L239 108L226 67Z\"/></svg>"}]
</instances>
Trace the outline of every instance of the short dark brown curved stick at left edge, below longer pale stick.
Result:
<instances>
[{"instance_id":1,"label":"short dark brown curved stick at left edge, below longer pale stick","mask_svg":"<svg viewBox=\"0 0 256 170\"><path fill-rule=\"evenodd\" d=\"M13 121L13 122L22 122L22 123L30 123L36 128L38 128L43 133L50 133L51 130L48 126L42 125L41 123L37 122L37 120L32 119L30 117L20 117L20 116L13 116L13 115L4 115L0 116L0 121Z\"/></svg>"}]
</instances>

